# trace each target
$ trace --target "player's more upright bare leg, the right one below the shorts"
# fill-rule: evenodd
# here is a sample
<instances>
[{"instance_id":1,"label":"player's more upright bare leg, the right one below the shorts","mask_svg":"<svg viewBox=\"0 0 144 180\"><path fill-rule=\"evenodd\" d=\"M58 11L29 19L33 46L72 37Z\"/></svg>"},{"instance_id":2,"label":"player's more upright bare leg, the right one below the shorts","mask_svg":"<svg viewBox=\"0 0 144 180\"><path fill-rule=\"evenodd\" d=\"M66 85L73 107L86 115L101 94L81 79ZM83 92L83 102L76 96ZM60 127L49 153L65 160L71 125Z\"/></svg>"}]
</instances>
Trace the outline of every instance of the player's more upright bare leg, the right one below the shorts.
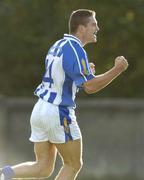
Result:
<instances>
[{"instance_id":1,"label":"player's more upright bare leg, the right one below the shorts","mask_svg":"<svg viewBox=\"0 0 144 180\"><path fill-rule=\"evenodd\" d=\"M74 180L82 167L82 140L56 144L63 167L55 180Z\"/></svg>"}]
</instances>

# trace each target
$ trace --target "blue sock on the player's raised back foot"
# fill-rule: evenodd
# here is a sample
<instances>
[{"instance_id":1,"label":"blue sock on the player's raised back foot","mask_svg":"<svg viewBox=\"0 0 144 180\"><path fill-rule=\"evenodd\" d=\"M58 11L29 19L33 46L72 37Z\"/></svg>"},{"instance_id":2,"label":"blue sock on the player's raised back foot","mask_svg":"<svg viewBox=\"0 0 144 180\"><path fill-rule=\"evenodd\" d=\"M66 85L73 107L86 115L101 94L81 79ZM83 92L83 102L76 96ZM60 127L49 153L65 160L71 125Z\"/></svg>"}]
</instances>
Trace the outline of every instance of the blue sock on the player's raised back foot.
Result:
<instances>
[{"instance_id":1,"label":"blue sock on the player's raised back foot","mask_svg":"<svg viewBox=\"0 0 144 180\"><path fill-rule=\"evenodd\" d=\"M14 171L10 166L5 166L2 169L4 180L11 180L14 177Z\"/></svg>"}]
</instances>

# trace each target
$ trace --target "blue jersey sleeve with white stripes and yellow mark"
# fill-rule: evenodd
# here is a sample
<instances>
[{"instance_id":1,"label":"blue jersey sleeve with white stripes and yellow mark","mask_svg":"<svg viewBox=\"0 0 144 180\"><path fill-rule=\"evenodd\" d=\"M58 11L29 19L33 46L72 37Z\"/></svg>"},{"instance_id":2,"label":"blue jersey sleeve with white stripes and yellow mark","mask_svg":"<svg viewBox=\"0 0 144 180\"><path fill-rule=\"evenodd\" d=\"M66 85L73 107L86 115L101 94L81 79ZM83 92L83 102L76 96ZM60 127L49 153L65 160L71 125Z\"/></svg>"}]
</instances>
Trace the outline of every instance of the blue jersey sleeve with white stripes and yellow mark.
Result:
<instances>
[{"instance_id":1,"label":"blue jersey sleeve with white stripes and yellow mark","mask_svg":"<svg viewBox=\"0 0 144 180\"><path fill-rule=\"evenodd\" d=\"M80 46L67 44L63 52L63 68L76 86L94 78L85 51Z\"/></svg>"}]
</instances>

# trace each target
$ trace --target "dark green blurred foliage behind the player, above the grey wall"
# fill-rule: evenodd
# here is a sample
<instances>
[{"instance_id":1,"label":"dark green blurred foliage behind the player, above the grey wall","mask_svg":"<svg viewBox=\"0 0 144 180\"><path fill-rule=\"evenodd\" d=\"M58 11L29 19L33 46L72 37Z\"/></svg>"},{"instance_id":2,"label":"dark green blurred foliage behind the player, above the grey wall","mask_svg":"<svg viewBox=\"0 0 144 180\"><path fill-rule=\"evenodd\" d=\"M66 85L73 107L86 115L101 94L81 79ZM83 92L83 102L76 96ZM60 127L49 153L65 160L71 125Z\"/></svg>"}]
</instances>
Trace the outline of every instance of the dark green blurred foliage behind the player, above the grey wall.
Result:
<instances>
[{"instance_id":1,"label":"dark green blurred foliage behind the player, above the grey wall","mask_svg":"<svg viewBox=\"0 0 144 180\"><path fill-rule=\"evenodd\" d=\"M33 95L48 48L68 33L69 15L78 8L97 12L98 42L85 47L96 73L111 68L118 55L130 64L109 87L91 97L144 97L144 0L1 0L0 94Z\"/></svg>"}]
</instances>

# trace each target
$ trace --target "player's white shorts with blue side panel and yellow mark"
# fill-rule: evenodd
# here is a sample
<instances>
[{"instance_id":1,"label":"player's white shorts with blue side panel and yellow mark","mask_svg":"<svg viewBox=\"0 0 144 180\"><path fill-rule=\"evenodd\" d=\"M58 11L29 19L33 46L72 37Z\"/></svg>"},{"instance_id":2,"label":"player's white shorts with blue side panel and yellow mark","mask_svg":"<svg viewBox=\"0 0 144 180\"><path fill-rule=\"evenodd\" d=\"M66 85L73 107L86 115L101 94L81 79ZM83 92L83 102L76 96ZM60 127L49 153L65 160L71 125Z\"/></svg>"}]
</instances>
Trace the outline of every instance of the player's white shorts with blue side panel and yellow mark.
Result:
<instances>
[{"instance_id":1,"label":"player's white shorts with blue side panel and yellow mark","mask_svg":"<svg viewBox=\"0 0 144 180\"><path fill-rule=\"evenodd\" d=\"M73 108L39 99L33 108L30 123L32 142L65 143L81 138Z\"/></svg>"}]
</instances>

